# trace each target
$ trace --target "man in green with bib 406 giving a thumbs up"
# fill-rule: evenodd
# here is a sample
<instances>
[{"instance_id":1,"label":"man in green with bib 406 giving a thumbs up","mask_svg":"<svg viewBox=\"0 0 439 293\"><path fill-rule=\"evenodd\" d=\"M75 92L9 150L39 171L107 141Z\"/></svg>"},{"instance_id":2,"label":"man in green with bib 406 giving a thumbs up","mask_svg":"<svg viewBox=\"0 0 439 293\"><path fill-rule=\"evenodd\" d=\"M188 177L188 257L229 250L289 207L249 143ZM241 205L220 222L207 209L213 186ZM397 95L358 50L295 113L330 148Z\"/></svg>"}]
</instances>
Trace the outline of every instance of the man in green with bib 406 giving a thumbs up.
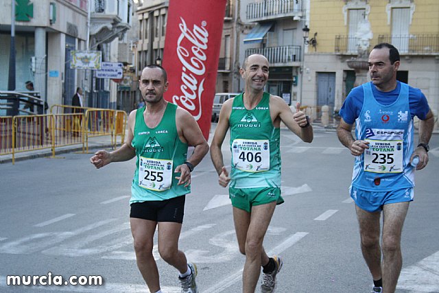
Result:
<instances>
[{"instance_id":1,"label":"man in green with bib 406 giving a thumbs up","mask_svg":"<svg viewBox=\"0 0 439 293\"><path fill-rule=\"evenodd\" d=\"M243 292L254 292L261 266L261 292L273 292L283 261L277 256L268 257L262 244L276 203L283 202L281 121L307 143L313 140L313 128L309 118L300 111L299 103L296 113L292 113L281 97L263 92L269 73L267 58L258 54L248 56L239 73L245 80L245 92L222 106L211 143L211 158L219 185L226 187L230 183L239 250L246 255ZM230 176L221 150L228 128L232 152Z\"/></svg>"}]
</instances>

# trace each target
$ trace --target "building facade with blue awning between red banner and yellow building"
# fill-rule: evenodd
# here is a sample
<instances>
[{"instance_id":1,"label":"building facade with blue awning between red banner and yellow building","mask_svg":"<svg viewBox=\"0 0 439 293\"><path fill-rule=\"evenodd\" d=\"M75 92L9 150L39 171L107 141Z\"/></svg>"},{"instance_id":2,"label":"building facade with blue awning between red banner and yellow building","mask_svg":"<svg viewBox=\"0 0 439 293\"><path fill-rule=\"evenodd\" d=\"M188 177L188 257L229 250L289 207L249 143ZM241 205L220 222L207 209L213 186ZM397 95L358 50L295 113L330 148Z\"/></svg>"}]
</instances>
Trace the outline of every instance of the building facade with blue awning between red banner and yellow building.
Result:
<instances>
[{"instance_id":1,"label":"building facade with blue awning between red banner and yellow building","mask_svg":"<svg viewBox=\"0 0 439 293\"><path fill-rule=\"evenodd\" d=\"M302 29L307 22L309 0L240 1L239 60L263 54L270 62L269 93L291 105L302 101L301 75L304 60ZM242 85L239 85L242 90Z\"/></svg>"}]
</instances>

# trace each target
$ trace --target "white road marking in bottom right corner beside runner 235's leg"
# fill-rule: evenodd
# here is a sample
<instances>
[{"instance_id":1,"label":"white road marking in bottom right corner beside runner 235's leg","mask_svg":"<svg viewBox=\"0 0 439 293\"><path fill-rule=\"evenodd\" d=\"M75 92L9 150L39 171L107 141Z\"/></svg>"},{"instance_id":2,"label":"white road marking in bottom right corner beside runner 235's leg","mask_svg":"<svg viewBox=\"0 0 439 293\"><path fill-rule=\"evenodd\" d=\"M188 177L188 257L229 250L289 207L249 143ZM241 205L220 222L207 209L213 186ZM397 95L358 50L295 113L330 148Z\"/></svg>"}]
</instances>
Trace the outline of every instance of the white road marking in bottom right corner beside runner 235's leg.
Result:
<instances>
[{"instance_id":1,"label":"white road marking in bottom right corner beside runner 235's leg","mask_svg":"<svg viewBox=\"0 0 439 293\"><path fill-rule=\"evenodd\" d=\"M401 270L397 289L439 292L439 251Z\"/></svg>"}]
</instances>

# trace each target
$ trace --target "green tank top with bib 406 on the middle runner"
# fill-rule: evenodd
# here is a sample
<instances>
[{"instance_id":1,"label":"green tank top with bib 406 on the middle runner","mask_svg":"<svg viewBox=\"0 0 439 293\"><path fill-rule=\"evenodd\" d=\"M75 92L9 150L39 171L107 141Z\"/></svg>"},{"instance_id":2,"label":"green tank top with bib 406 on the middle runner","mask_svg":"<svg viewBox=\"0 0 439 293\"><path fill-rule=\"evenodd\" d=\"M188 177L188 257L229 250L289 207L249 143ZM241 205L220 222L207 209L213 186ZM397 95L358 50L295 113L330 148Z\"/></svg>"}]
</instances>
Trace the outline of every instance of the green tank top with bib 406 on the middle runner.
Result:
<instances>
[{"instance_id":1,"label":"green tank top with bib 406 on the middle runner","mask_svg":"<svg viewBox=\"0 0 439 293\"><path fill-rule=\"evenodd\" d=\"M270 117L270 94L252 110L243 93L233 100L230 113L230 187L281 187L281 130Z\"/></svg>"}]
</instances>

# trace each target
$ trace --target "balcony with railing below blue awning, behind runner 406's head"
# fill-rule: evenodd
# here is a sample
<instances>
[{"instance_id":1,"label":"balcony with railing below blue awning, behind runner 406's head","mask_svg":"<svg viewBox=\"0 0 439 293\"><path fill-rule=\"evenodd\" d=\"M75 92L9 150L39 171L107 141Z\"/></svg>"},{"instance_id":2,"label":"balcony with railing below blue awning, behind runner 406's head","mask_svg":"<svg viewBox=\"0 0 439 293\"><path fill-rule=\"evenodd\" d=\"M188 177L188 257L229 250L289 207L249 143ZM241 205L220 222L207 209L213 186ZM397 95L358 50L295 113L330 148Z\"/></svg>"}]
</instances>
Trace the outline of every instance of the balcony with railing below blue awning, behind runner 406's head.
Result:
<instances>
[{"instance_id":1,"label":"balcony with railing below blue awning, behind runner 406's head","mask_svg":"<svg viewBox=\"0 0 439 293\"><path fill-rule=\"evenodd\" d=\"M246 56L262 54L271 66L300 66L302 47L297 45L246 49Z\"/></svg>"}]
</instances>

